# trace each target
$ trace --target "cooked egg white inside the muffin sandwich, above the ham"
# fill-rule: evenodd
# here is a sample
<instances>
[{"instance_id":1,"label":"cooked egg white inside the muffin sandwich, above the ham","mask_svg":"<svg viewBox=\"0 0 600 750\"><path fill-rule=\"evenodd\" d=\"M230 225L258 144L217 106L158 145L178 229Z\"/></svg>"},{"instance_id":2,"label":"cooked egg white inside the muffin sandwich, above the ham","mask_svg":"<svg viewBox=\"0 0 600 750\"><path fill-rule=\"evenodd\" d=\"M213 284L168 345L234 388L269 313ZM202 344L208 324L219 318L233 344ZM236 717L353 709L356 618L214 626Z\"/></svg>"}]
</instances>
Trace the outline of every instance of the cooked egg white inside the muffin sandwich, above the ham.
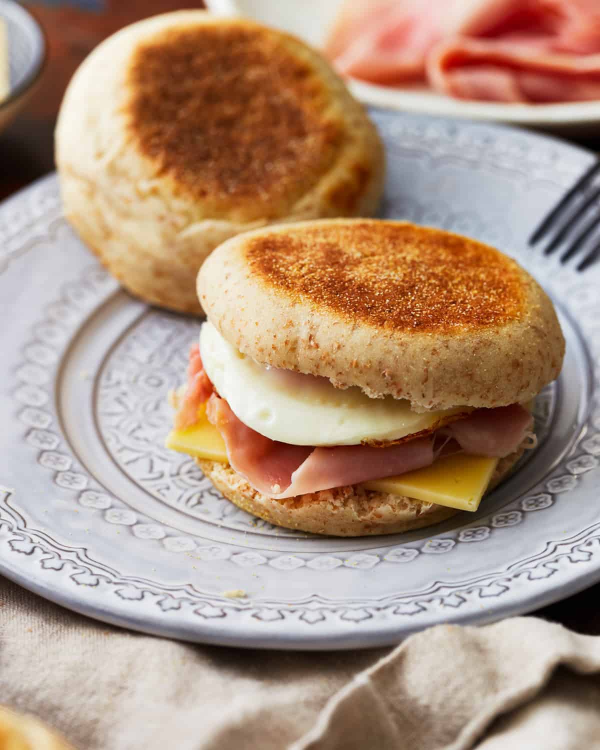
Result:
<instances>
[{"instance_id":1,"label":"cooked egg white inside the muffin sandwich, above the ham","mask_svg":"<svg viewBox=\"0 0 600 750\"><path fill-rule=\"evenodd\" d=\"M463 409L417 414L409 401L369 398L325 378L268 368L240 353L211 323L200 329L206 374L233 413L261 435L296 446L353 446L430 430Z\"/></svg>"}]
</instances>

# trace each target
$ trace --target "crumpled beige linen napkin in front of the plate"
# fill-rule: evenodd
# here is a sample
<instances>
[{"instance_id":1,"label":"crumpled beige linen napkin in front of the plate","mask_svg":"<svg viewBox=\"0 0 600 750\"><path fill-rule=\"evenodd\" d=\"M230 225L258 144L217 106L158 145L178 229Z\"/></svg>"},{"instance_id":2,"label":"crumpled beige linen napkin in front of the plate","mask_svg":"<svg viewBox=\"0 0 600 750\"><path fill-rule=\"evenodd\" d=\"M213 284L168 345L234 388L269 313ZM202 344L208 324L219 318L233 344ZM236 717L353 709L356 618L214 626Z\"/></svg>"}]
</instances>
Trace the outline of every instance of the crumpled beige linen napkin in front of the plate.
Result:
<instances>
[{"instance_id":1,"label":"crumpled beige linen napkin in front of the plate","mask_svg":"<svg viewBox=\"0 0 600 750\"><path fill-rule=\"evenodd\" d=\"M0 703L80 750L600 747L600 637L541 619L290 653L122 631L3 579L0 603Z\"/></svg>"}]
</instances>

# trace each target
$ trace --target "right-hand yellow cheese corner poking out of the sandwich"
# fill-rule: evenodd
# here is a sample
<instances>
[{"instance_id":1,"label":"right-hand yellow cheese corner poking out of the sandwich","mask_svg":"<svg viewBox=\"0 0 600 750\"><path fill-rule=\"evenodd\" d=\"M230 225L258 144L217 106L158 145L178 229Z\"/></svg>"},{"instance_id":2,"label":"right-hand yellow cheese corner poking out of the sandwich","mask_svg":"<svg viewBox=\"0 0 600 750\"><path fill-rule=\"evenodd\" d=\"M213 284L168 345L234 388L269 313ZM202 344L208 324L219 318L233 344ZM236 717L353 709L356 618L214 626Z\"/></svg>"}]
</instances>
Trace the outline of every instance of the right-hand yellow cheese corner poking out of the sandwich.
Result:
<instances>
[{"instance_id":1,"label":"right-hand yellow cheese corner poking out of the sandwich","mask_svg":"<svg viewBox=\"0 0 600 750\"><path fill-rule=\"evenodd\" d=\"M458 453L438 458L425 469L365 481L368 490L406 495L461 511L476 511L498 465L497 458Z\"/></svg>"}]
</instances>

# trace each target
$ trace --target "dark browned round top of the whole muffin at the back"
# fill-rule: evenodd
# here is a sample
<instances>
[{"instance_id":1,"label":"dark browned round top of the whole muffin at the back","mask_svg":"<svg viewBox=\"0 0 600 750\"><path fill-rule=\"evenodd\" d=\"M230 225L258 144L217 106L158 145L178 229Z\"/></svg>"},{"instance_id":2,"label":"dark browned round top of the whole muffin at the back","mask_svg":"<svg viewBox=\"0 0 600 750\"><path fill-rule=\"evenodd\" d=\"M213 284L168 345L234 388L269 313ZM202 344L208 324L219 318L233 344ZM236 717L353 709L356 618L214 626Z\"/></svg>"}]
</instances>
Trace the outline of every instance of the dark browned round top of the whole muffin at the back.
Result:
<instances>
[{"instance_id":1,"label":"dark browned round top of the whole muffin at the back","mask_svg":"<svg viewBox=\"0 0 600 750\"><path fill-rule=\"evenodd\" d=\"M127 89L130 133L163 175L194 199L252 202L266 218L319 181L344 138L305 47L248 22L155 34L135 50Z\"/></svg>"}]
</instances>

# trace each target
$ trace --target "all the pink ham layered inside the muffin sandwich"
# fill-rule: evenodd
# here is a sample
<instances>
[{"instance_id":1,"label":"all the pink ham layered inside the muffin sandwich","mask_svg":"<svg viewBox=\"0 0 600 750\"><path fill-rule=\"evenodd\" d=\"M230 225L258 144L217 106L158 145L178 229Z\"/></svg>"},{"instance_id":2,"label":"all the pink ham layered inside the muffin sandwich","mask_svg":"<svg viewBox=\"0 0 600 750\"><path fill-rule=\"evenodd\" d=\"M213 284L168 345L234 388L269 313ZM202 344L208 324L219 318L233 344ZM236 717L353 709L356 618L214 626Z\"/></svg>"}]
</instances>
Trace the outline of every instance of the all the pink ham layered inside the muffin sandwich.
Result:
<instances>
[{"instance_id":1,"label":"all the pink ham layered inside the muffin sandwich","mask_svg":"<svg viewBox=\"0 0 600 750\"><path fill-rule=\"evenodd\" d=\"M308 376L310 377L310 376ZM404 474L430 466L437 458L436 440L455 441L456 449L472 455L501 458L520 446L532 416L518 404L478 409L446 425L440 433L385 448L373 446L292 446L278 443L241 422L229 404L214 392L202 368L197 347L190 352L188 386L175 417L184 428L196 421L206 404L208 421L220 432L233 469L260 493L276 499L345 487ZM447 446L444 446L447 448Z\"/></svg>"}]
</instances>

